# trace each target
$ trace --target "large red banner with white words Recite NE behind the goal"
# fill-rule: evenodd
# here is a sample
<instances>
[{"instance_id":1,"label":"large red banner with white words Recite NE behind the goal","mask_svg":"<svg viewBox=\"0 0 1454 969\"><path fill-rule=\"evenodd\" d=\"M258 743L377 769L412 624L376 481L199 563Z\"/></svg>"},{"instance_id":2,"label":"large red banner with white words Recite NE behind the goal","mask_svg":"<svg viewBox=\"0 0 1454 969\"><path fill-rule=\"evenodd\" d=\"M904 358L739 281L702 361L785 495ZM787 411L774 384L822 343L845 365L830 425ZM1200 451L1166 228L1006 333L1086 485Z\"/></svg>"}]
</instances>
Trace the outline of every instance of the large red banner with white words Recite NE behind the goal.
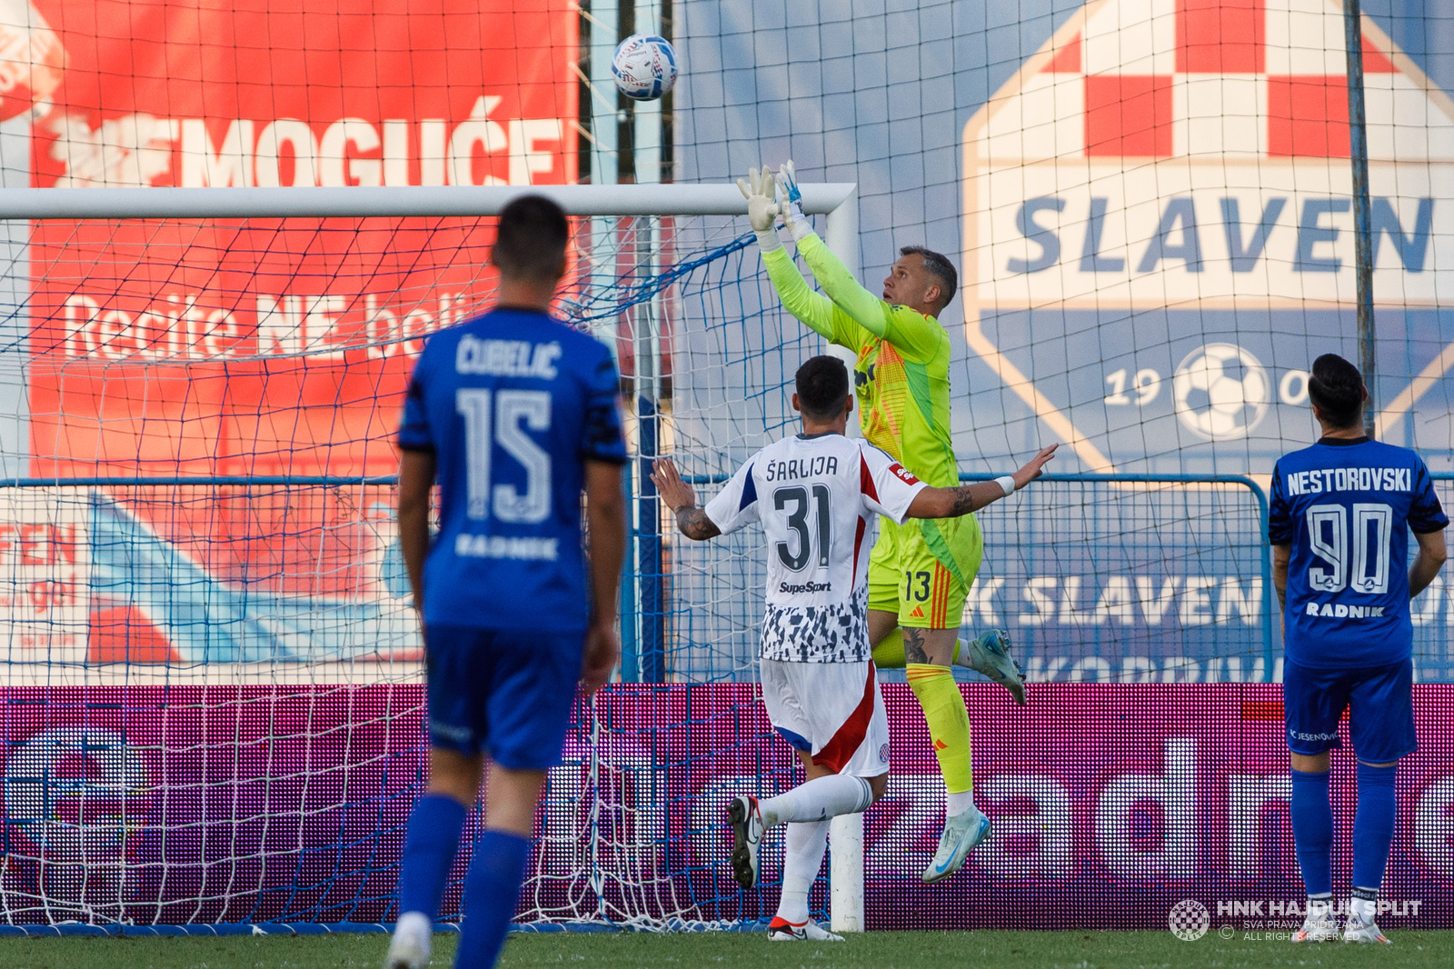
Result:
<instances>
[{"instance_id":1,"label":"large red banner with white words Recite NE behind the goal","mask_svg":"<svg viewBox=\"0 0 1454 969\"><path fill-rule=\"evenodd\" d=\"M31 99L32 182L574 180L564 0L314 7L36 4L29 36L0 36L38 61L0 77L0 109ZM394 470L407 359L493 288L491 236L473 220L38 223L31 473Z\"/></svg>"}]
</instances>

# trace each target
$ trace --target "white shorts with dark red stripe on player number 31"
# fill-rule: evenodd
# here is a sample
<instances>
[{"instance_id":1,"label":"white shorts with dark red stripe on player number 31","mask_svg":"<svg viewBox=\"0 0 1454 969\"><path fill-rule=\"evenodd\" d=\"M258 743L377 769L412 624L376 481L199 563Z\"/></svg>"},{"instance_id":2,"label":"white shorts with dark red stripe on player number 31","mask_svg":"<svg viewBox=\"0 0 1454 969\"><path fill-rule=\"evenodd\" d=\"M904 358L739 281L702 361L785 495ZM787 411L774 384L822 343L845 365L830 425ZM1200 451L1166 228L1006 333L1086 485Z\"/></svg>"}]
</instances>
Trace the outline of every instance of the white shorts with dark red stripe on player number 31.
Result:
<instances>
[{"instance_id":1,"label":"white shorts with dark red stripe on player number 31","mask_svg":"<svg viewBox=\"0 0 1454 969\"><path fill-rule=\"evenodd\" d=\"M839 774L878 777L888 771L888 714L872 661L759 662L762 703L788 743Z\"/></svg>"}]
</instances>

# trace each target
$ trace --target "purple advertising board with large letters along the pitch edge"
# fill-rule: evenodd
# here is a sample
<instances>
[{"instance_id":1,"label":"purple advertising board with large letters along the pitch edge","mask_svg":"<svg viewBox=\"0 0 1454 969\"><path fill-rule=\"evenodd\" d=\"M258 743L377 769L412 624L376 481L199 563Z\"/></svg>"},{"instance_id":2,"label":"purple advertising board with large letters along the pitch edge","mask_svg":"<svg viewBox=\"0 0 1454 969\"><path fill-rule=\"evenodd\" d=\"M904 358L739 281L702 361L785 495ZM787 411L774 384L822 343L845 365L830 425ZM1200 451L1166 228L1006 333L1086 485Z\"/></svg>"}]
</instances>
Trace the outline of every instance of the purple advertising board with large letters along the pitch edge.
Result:
<instances>
[{"instance_id":1,"label":"purple advertising board with large letters along the pitch edge","mask_svg":"<svg viewBox=\"0 0 1454 969\"><path fill-rule=\"evenodd\" d=\"M1214 927L1242 927L1287 921L1301 898L1277 687L1044 685L1025 709L965 687L976 800L995 832L932 886L919 874L942 781L909 688L884 691L891 775L865 818L869 928L1165 928L1188 899ZM9 688L4 701L9 921L394 917L423 783L422 687ZM1454 925L1451 709L1450 687L1415 687L1419 752L1399 771L1386 927ZM756 687L612 687L595 701L595 733L589 709L577 713L519 917L771 915L781 829L763 885L742 892L723 821L733 794L801 781ZM1333 759L1342 892L1355 787L1351 754ZM816 908L823 898L820 882Z\"/></svg>"}]
</instances>

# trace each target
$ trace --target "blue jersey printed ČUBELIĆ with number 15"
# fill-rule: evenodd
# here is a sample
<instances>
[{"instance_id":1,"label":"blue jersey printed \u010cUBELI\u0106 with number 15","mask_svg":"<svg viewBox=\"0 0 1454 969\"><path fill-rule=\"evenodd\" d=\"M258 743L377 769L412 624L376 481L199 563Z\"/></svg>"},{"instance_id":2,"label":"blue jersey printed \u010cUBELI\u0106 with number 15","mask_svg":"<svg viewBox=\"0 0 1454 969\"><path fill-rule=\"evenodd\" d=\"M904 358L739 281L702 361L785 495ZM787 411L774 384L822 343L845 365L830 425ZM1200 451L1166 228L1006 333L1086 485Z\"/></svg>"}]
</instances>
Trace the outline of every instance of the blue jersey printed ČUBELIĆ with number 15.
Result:
<instances>
[{"instance_id":1,"label":"blue jersey printed \u010cUBELI\u0106 with number 15","mask_svg":"<svg viewBox=\"0 0 1454 969\"><path fill-rule=\"evenodd\" d=\"M500 308L429 339L398 432L439 476L426 626L586 627L580 492L586 461L625 461L616 393L611 351L544 313Z\"/></svg>"}]
</instances>

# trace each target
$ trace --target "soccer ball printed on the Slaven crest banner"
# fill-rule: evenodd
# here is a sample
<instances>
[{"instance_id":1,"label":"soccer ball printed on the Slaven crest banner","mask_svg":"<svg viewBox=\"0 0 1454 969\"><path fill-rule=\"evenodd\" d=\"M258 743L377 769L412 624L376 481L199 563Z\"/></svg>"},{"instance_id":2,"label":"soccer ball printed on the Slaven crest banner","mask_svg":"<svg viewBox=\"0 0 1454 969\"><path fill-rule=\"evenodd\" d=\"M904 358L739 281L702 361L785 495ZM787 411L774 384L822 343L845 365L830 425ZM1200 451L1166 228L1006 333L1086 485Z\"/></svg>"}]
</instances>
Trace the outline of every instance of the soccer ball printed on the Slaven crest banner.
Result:
<instances>
[{"instance_id":1,"label":"soccer ball printed on the Slaven crest banner","mask_svg":"<svg viewBox=\"0 0 1454 969\"><path fill-rule=\"evenodd\" d=\"M1262 362L1234 343L1194 351L1172 381L1176 416L1208 441L1245 438L1266 416L1272 383Z\"/></svg>"}]
</instances>

